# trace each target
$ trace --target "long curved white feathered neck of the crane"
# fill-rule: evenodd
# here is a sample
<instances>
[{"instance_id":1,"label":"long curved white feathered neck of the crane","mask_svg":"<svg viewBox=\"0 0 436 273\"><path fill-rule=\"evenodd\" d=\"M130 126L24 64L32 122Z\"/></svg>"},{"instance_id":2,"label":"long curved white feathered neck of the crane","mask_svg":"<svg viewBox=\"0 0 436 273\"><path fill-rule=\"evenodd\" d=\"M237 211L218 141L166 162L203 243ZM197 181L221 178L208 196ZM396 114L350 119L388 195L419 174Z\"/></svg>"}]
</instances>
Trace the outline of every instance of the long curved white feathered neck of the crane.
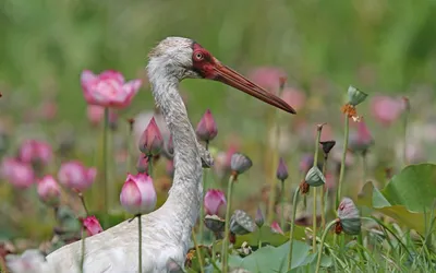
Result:
<instances>
[{"instance_id":1,"label":"long curved white feathered neck of the crane","mask_svg":"<svg viewBox=\"0 0 436 273\"><path fill-rule=\"evenodd\" d=\"M174 212L174 222L191 230L202 201L203 169L195 131L178 92L179 79L167 74L165 66L150 62L148 78L153 95L160 107L174 144L174 178L164 207Z\"/></svg>"}]
</instances>

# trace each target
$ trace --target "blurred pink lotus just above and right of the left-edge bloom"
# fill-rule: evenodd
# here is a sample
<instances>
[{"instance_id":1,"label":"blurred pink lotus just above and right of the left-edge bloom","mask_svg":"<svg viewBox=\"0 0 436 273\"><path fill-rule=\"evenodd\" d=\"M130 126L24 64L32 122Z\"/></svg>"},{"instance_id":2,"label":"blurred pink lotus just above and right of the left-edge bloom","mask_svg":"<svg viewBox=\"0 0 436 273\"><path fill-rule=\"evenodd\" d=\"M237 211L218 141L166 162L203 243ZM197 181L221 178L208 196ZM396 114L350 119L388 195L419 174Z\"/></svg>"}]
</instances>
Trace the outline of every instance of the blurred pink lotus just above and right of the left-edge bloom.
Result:
<instances>
[{"instance_id":1,"label":"blurred pink lotus just above and right of the left-edge bloom","mask_svg":"<svg viewBox=\"0 0 436 273\"><path fill-rule=\"evenodd\" d=\"M53 158L50 144L38 140L26 140L20 147L20 159L23 163L48 164Z\"/></svg>"}]
</instances>

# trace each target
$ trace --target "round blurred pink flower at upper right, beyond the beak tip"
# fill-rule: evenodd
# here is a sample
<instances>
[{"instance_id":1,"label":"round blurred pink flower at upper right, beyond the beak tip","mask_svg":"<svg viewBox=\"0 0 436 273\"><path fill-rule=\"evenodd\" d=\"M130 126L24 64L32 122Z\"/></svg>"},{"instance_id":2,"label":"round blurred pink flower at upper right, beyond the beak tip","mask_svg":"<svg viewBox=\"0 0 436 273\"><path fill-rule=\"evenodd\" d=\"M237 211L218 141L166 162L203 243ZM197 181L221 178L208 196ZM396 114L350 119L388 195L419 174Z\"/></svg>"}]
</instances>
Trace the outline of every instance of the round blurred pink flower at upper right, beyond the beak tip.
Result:
<instances>
[{"instance_id":1,"label":"round blurred pink flower at upper right, beyond the beak tip","mask_svg":"<svg viewBox=\"0 0 436 273\"><path fill-rule=\"evenodd\" d=\"M390 126L401 117L404 110L402 98L375 96L371 99L371 112L375 120L383 126Z\"/></svg>"}]
</instances>

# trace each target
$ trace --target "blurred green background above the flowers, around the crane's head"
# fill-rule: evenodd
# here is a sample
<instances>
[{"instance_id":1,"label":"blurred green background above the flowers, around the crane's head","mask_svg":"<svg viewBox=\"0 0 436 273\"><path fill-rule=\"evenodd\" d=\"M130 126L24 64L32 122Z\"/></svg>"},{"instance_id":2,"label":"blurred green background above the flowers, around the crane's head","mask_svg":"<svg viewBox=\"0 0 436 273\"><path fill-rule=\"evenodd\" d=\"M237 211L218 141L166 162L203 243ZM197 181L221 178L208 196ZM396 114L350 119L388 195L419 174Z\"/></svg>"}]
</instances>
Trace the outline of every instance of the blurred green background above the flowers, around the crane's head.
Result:
<instances>
[{"instance_id":1,"label":"blurred green background above the flowers, around the crane's head","mask_svg":"<svg viewBox=\"0 0 436 273\"><path fill-rule=\"evenodd\" d=\"M316 93L328 79L342 92L407 92L436 81L436 1L1 0L0 83L29 102L57 91L60 116L85 118L84 69L144 74L147 52L166 36L191 37L242 72L280 67ZM218 83L185 81L190 111L220 112ZM146 90L146 88L145 88ZM144 88L134 109L152 105ZM237 98L241 98L237 96Z\"/></svg>"}]
</instances>

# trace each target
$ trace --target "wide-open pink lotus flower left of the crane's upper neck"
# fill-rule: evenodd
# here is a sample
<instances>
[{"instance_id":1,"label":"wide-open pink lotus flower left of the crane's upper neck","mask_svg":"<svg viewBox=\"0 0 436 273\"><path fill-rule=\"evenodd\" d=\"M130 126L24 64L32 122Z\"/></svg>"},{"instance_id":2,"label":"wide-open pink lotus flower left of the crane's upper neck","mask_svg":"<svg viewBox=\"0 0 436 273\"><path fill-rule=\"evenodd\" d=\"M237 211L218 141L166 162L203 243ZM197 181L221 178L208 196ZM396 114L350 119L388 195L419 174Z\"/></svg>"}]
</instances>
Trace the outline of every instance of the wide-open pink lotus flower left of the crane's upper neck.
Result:
<instances>
[{"instance_id":1,"label":"wide-open pink lotus flower left of the crane's upper neck","mask_svg":"<svg viewBox=\"0 0 436 273\"><path fill-rule=\"evenodd\" d=\"M140 90L142 80L124 82L123 75L113 70L104 71L99 75L85 70L82 72L81 83L89 105L125 108Z\"/></svg>"}]
</instances>

